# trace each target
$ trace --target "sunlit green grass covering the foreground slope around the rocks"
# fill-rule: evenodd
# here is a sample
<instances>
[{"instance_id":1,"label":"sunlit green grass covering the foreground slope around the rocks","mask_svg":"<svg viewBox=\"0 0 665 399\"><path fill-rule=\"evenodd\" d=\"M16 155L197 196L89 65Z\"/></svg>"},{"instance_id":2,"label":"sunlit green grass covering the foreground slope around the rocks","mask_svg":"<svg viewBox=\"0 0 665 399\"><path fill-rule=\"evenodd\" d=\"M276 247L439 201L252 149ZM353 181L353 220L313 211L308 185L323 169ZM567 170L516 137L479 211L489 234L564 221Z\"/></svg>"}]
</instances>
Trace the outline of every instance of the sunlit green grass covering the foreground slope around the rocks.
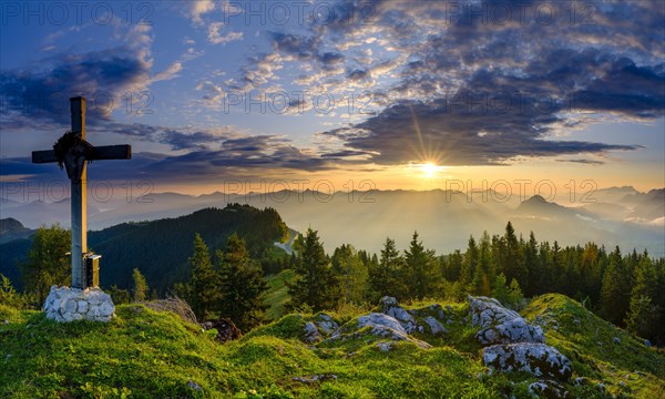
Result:
<instances>
[{"instance_id":1,"label":"sunlit green grass covering the foreground slope around the rocks","mask_svg":"<svg viewBox=\"0 0 665 399\"><path fill-rule=\"evenodd\" d=\"M287 315L219 346L198 327L140 305L119 306L117 317L108 325L57 324L41 313L0 305L0 320L10 321L0 324L0 397L528 397L526 387L535 379L523 374L489 375L480 361L474 330L466 321L468 306L456 304L453 309L456 323L447 325L447 338L420 337L434 348L399 344L381 352L367 338L307 346L300 340L303 326L311 318L307 315ZM613 393L627 395L630 389L635 397L662 397L662 351L621 335L559 295L538 298L524 315L550 313L559 331L548 329L548 342L571 357L574 377L585 380L580 387L566 386L573 395L602 397L596 385L603 381ZM344 324L357 315L332 316ZM572 321L575 317L581 319L580 330ZM618 346L612 342L617 335ZM610 344L615 347L608 348ZM311 375L337 379L293 380ZM190 381L203 391L191 388Z\"/></svg>"}]
</instances>

